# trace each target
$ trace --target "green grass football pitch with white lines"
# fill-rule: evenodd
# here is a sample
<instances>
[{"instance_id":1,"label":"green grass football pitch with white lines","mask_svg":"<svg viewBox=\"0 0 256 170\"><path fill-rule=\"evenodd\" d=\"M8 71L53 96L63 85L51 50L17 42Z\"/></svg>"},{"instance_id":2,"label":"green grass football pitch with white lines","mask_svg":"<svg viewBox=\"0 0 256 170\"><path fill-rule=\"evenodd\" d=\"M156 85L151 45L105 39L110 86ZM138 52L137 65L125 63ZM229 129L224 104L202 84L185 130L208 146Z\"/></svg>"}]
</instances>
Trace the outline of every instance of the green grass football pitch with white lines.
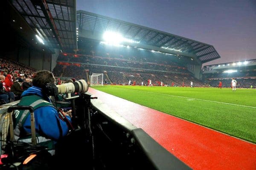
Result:
<instances>
[{"instance_id":1,"label":"green grass football pitch with white lines","mask_svg":"<svg viewBox=\"0 0 256 170\"><path fill-rule=\"evenodd\" d=\"M93 88L256 143L256 89L122 85Z\"/></svg>"}]
</instances>

